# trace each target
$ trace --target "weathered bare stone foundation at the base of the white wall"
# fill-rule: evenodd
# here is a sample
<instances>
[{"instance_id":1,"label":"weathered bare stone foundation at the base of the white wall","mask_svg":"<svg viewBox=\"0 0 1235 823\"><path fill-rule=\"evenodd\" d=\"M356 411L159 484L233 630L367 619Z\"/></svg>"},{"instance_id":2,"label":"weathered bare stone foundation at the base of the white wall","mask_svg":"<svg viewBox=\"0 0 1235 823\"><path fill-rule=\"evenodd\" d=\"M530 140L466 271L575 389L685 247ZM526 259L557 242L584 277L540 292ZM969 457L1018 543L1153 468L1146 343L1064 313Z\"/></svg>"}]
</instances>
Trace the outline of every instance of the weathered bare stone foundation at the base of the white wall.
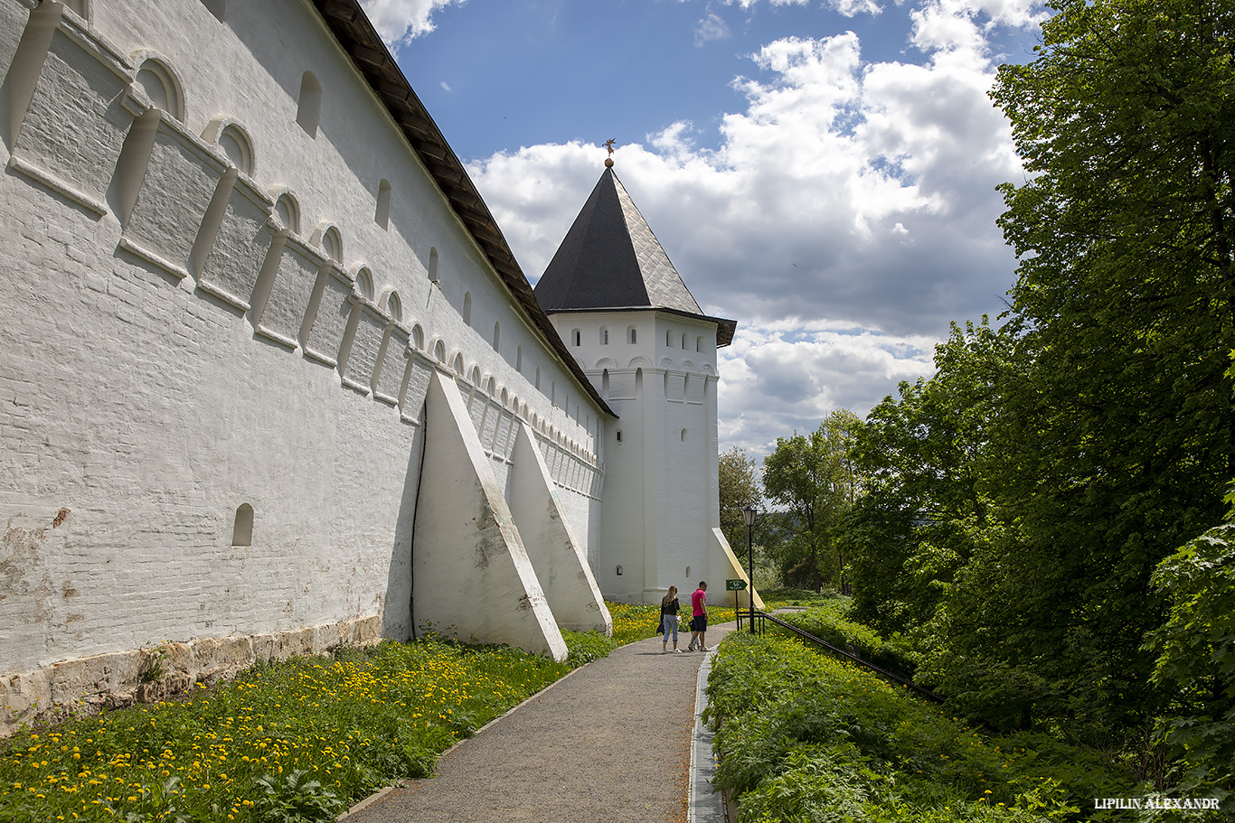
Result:
<instances>
[{"instance_id":1,"label":"weathered bare stone foundation at the base of the white wall","mask_svg":"<svg viewBox=\"0 0 1235 823\"><path fill-rule=\"evenodd\" d=\"M0 737L21 726L185 695L212 686L262 660L324 654L382 639L382 616L269 634L205 637L185 643L62 660L0 679Z\"/></svg>"}]
</instances>

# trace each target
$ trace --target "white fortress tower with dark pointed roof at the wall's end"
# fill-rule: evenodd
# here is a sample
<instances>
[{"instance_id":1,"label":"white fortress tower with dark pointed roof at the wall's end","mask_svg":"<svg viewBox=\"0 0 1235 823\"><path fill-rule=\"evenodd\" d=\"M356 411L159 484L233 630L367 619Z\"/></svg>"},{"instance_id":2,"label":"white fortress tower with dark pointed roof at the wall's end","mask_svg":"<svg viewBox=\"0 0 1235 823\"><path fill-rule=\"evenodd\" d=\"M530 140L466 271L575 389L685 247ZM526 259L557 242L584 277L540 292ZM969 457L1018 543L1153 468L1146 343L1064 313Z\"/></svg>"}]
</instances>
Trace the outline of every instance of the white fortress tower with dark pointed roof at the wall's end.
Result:
<instances>
[{"instance_id":1,"label":"white fortress tower with dark pointed roof at the wall's end","mask_svg":"<svg viewBox=\"0 0 1235 823\"><path fill-rule=\"evenodd\" d=\"M606 597L653 602L708 580L718 602L725 579L746 577L720 532L718 482L716 349L737 323L703 313L605 165L536 285L619 416L603 444L597 582Z\"/></svg>"}]
</instances>

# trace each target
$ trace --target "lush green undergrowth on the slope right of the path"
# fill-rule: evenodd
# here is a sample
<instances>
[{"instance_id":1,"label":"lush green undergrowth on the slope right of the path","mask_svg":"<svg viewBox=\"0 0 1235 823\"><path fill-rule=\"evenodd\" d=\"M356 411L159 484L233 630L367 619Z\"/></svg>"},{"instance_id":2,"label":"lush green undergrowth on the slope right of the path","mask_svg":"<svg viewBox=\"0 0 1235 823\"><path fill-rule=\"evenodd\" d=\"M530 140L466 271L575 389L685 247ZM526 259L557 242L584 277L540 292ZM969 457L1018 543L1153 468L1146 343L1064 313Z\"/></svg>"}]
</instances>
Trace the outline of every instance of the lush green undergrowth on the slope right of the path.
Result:
<instances>
[{"instance_id":1,"label":"lush green undergrowth on the slope right of the path","mask_svg":"<svg viewBox=\"0 0 1235 823\"><path fill-rule=\"evenodd\" d=\"M984 734L795 639L730 634L708 695L740 823L1125 821L1094 798L1145 791L1102 753Z\"/></svg>"}]
</instances>

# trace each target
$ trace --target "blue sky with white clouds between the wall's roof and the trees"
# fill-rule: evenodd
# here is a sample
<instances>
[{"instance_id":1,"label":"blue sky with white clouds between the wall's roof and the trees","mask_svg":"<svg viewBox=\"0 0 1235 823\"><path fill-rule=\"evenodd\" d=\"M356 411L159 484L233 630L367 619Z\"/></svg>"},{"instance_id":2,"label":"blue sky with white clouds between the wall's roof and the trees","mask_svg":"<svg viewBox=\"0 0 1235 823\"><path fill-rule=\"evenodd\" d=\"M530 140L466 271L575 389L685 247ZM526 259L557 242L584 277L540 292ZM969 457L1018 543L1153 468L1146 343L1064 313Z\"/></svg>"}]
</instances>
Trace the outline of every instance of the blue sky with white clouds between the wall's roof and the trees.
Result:
<instances>
[{"instance_id":1,"label":"blue sky with white clouds between the wall's roof and the trees","mask_svg":"<svg viewBox=\"0 0 1235 823\"><path fill-rule=\"evenodd\" d=\"M1032 0L363 0L535 283L615 170L709 313L721 449L766 454L995 315L1021 179L986 96Z\"/></svg>"}]
</instances>

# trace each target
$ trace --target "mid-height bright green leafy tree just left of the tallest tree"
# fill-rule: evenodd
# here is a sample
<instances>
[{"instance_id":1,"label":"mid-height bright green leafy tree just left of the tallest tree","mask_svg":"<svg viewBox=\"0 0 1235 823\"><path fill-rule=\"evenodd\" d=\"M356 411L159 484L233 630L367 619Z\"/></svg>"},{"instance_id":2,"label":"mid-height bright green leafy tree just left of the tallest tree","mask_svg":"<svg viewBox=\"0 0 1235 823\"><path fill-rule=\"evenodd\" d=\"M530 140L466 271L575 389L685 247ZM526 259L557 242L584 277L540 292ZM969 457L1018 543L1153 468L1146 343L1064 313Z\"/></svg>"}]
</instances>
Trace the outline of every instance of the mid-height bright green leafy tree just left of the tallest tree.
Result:
<instances>
[{"instance_id":1,"label":"mid-height bright green leafy tree just left of the tallest tree","mask_svg":"<svg viewBox=\"0 0 1235 823\"><path fill-rule=\"evenodd\" d=\"M1013 341L987 318L952 325L935 375L902 383L858 431L868 492L845 519L853 607L885 631L931 621L994 519L1003 455L994 439ZM994 486L994 487L992 487Z\"/></svg>"}]
</instances>

